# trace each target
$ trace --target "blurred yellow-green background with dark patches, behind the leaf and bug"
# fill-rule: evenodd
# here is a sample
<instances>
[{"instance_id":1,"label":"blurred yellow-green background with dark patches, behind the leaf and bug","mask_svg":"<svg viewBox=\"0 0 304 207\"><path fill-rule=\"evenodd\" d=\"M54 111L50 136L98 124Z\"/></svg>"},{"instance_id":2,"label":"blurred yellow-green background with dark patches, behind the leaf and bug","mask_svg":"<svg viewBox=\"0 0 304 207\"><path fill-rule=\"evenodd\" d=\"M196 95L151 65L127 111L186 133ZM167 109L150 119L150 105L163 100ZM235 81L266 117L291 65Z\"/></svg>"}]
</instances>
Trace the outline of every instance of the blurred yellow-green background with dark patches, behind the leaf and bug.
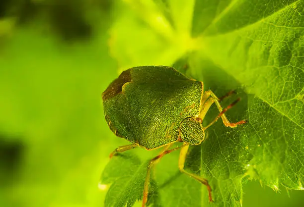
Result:
<instances>
[{"instance_id":1,"label":"blurred yellow-green background with dark patches, behind the leaf and bug","mask_svg":"<svg viewBox=\"0 0 304 207\"><path fill-rule=\"evenodd\" d=\"M1 207L103 206L100 174L108 155L127 142L108 129L101 93L134 62L169 64L182 53L156 55L167 44L158 41L117 58L116 35L128 41L125 27L146 27L130 23L133 13L119 0L0 1ZM148 31L137 38L157 39ZM141 52L147 59L128 58ZM275 193L258 182L243 191L244 207L304 202L303 192Z\"/></svg>"}]
</instances>

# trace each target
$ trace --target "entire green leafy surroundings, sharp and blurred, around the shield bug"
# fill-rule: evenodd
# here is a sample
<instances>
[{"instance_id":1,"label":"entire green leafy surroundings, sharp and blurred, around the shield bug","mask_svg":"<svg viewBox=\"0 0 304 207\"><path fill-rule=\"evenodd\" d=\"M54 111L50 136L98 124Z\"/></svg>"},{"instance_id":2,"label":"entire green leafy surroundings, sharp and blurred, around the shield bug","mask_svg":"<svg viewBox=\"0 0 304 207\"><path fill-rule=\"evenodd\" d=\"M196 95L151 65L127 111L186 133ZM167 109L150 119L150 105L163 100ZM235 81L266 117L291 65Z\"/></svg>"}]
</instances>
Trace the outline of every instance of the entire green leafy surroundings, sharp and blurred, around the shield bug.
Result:
<instances>
[{"instance_id":1,"label":"entire green leafy surroundings, sharp and blurred, around the shield bug","mask_svg":"<svg viewBox=\"0 0 304 207\"><path fill-rule=\"evenodd\" d=\"M210 205L239 205L239 198L244 207L303 205L304 191L285 192L303 186L303 0L0 5L1 207L102 207L105 198L108 206L141 206L147 162L160 151L134 149L109 162L110 152L130 143L109 130L100 95L118 76L117 64L175 62L218 96L236 89L223 103L242 98L228 118L249 120L236 129L219 121L188 155L186 169L211 182ZM212 108L205 124L217 113ZM181 174L177 159L178 151L165 155L152 170L148 203L205 205L205 186ZM106 196L97 183L107 163Z\"/></svg>"}]
</instances>

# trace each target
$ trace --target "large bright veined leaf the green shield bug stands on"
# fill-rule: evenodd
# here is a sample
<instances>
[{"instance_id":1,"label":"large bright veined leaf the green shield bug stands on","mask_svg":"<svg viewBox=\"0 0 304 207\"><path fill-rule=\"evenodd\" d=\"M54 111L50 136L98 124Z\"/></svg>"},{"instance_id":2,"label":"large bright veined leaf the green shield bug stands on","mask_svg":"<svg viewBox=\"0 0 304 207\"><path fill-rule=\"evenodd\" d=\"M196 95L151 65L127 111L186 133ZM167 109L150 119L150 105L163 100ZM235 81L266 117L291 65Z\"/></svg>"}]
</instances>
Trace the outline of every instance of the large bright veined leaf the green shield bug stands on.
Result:
<instances>
[{"instance_id":1,"label":"large bright veined leaf the green shield bug stands on","mask_svg":"<svg viewBox=\"0 0 304 207\"><path fill-rule=\"evenodd\" d=\"M252 178L275 191L304 190L303 0L129 0L118 7L122 12L110 30L110 50L121 70L172 65L184 58L186 74L219 97L237 89L242 101L228 111L228 118L249 121L235 129L218 121L208 129L208 139L187 156L186 169L209 180L215 203L209 204L205 186L178 172L178 155L173 153L160 161L152 176L158 186L153 190L157 205L241 206L242 185ZM217 113L208 112L204 123ZM105 206L130 206L142 197L138 192L143 184L119 184L138 179L111 173L123 162L130 172L142 172L143 179L147 161L119 159L108 164L115 162L116 167L103 172L102 182L114 182ZM118 205L114 193L130 200Z\"/></svg>"}]
</instances>

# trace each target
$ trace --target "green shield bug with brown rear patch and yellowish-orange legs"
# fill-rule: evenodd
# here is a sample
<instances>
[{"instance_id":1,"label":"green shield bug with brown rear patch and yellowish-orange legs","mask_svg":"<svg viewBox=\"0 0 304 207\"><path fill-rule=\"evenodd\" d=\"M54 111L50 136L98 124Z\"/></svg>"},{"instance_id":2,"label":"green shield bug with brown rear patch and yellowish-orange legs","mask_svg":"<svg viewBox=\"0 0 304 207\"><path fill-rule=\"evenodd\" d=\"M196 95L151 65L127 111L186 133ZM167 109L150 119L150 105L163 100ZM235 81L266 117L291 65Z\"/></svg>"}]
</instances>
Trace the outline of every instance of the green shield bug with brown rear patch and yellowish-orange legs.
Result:
<instances>
[{"instance_id":1,"label":"green shield bug with brown rear patch and yellowish-orange legs","mask_svg":"<svg viewBox=\"0 0 304 207\"><path fill-rule=\"evenodd\" d=\"M136 147L147 150L164 147L148 165L143 207L148 199L153 164L163 155L178 149L181 149L178 161L180 171L206 185L209 201L213 202L208 180L184 170L184 162L189 145L201 144L205 139L205 130L219 118L227 127L245 123L244 120L230 123L225 115L239 99L224 109L220 104L221 99L210 90L204 92L202 82L189 79L166 66L130 68L122 72L103 92L104 113L110 129L116 136L133 143L117 148L110 157ZM214 103L220 113L211 123L203 126L202 120ZM170 149L175 142L183 144Z\"/></svg>"}]
</instances>

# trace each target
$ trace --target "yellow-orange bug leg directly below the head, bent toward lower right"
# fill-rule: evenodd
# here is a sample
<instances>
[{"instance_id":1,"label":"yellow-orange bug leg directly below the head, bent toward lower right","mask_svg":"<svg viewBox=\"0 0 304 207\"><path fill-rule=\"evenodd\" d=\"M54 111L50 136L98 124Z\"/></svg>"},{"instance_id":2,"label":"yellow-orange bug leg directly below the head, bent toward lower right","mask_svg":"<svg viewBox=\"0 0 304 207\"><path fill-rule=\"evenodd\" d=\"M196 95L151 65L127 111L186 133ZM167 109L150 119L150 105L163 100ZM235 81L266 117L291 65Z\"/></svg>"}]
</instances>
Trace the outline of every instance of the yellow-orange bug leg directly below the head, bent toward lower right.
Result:
<instances>
[{"instance_id":1,"label":"yellow-orange bug leg directly below the head, bent toward lower right","mask_svg":"<svg viewBox=\"0 0 304 207\"><path fill-rule=\"evenodd\" d=\"M208 180L205 179L205 178L202 178L194 173L190 173L190 172L187 172L185 169L184 169L184 164L185 164L185 159L186 159L186 155L187 155L187 152L188 152L188 149L189 149L189 144L184 144L182 146L182 149L180 150L180 155L179 155L179 159L178 159L178 168L179 170L182 172L182 173L185 173L186 175L194 178L195 180L199 181L200 183L204 184L206 187L207 187L207 190L208 190L208 197L209 197L209 201L210 202L214 202L212 200L212 196L211 196L211 187L208 183Z\"/></svg>"}]
</instances>

